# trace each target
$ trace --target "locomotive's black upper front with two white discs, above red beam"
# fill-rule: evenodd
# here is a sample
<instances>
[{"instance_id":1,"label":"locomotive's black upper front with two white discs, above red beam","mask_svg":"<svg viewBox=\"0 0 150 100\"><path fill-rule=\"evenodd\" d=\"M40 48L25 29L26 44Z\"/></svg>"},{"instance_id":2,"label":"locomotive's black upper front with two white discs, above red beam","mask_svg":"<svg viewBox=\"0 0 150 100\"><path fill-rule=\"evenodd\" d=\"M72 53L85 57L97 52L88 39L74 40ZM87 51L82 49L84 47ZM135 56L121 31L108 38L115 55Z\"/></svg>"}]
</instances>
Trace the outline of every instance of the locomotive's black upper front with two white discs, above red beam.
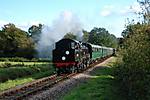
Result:
<instances>
[{"instance_id":1,"label":"locomotive's black upper front with two white discs, above red beam","mask_svg":"<svg viewBox=\"0 0 150 100\"><path fill-rule=\"evenodd\" d=\"M53 50L53 62L65 63L74 62L75 53L80 49L79 42L71 39L62 39L56 43L56 49ZM77 54L79 56L79 54ZM58 64L57 64L58 65Z\"/></svg>"}]
</instances>

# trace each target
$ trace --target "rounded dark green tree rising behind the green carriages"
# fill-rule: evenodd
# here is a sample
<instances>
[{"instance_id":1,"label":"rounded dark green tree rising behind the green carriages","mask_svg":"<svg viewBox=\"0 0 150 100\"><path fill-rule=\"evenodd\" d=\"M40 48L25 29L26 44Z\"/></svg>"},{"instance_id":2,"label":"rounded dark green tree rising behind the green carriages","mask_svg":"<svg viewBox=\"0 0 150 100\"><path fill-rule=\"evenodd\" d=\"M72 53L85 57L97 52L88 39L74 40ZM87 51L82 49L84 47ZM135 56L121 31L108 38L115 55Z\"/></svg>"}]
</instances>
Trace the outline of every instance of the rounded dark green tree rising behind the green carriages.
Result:
<instances>
[{"instance_id":1,"label":"rounded dark green tree rising behind the green carriages","mask_svg":"<svg viewBox=\"0 0 150 100\"><path fill-rule=\"evenodd\" d=\"M117 38L105 28L93 28L89 33L88 42L107 47L117 47Z\"/></svg>"}]
</instances>

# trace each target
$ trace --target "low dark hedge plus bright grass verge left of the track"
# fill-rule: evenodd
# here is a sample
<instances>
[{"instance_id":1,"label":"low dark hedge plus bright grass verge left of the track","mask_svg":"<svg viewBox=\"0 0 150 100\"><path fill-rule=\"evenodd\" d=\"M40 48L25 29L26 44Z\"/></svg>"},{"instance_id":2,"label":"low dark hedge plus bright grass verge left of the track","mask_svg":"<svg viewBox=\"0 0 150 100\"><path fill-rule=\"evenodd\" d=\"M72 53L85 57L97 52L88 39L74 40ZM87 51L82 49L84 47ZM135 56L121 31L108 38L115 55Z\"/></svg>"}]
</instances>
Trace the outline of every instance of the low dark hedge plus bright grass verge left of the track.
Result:
<instances>
[{"instance_id":1,"label":"low dark hedge plus bright grass verge left of the track","mask_svg":"<svg viewBox=\"0 0 150 100\"><path fill-rule=\"evenodd\" d=\"M0 67L0 91L50 76L53 73L54 67L48 62L43 64L35 63L34 65Z\"/></svg>"}]
</instances>

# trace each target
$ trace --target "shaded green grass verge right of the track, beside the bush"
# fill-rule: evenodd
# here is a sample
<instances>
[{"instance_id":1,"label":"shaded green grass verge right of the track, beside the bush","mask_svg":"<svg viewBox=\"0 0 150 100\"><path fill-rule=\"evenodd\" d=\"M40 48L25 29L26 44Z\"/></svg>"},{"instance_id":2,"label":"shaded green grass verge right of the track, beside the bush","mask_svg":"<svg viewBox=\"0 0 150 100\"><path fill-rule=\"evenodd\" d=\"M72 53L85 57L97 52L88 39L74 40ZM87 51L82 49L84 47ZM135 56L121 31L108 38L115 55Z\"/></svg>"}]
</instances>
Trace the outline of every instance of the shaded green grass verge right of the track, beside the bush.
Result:
<instances>
[{"instance_id":1,"label":"shaded green grass verge right of the track, beside the bush","mask_svg":"<svg viewBox=\"0 0 150 100\"><path fill-rule=\"evenodd\" d=\"M113 65L116 58L103 65ZM92 78L66 94L63 100L123 100L118 93L111 67L99 67L91 74Z\"/></svg>"}]
</instances>

